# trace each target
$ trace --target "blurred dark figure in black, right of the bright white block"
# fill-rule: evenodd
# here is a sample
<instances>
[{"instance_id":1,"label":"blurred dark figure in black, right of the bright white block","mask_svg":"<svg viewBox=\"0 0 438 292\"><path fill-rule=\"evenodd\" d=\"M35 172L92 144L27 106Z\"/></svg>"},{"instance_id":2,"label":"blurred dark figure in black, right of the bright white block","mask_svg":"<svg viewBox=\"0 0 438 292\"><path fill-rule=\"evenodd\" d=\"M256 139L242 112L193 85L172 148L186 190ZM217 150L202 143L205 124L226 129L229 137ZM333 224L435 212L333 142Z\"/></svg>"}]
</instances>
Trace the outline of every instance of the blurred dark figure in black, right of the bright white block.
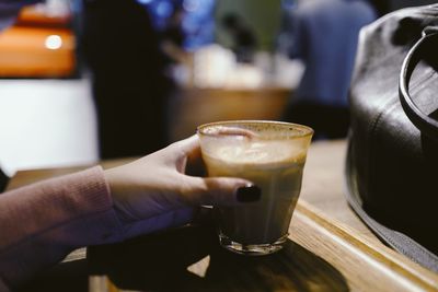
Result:
<instances>
[{"instance_id":1,"label":"blurred dark figure in black, right of the bright white block","mask_svg":"<svg viewBox=\"0 0 438 292\"><path fill-rule=\"evenodd\" d=\"M169 140L174 83L148 10L136 0L83 0L83 8L101 157L157 151Z\"/></svg>"}]
</instances>

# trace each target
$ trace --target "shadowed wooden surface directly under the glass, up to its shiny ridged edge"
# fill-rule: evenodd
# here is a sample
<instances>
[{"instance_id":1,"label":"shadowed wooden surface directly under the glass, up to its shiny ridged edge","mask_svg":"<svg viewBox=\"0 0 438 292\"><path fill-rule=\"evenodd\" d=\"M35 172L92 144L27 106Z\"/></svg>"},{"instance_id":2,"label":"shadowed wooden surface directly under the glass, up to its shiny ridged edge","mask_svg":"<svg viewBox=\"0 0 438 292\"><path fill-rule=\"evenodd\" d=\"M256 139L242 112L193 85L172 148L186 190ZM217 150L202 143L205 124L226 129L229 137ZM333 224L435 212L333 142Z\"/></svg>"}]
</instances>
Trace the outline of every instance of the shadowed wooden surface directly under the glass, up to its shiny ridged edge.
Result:
<instances>
[{"instance_id":1,"label":"shadowed wooden surface directly under the glass, up to its shiny ridged edge","mask_svg":"<svg viewBox=\"0 0 438 292\"><path fill-rule=\"evenodd\" d=\"M224 250L208 224L92 247L90 291L437 291L436 273L304 201L289 232L264 257Z\"/></svg>"}]
</instances>

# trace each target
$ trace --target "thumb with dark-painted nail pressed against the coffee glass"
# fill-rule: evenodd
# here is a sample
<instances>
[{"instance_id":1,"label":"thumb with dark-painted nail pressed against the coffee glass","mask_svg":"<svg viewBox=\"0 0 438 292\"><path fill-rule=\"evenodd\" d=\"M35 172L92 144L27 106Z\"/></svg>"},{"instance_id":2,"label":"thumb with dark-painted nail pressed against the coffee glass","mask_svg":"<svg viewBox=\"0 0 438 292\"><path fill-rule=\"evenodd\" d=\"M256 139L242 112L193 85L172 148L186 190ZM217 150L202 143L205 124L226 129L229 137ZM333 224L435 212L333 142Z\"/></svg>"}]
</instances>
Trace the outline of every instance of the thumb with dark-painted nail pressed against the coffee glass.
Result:
<instances>
[{"instance_id":1,"label":"thumb with dark-painted nail pressed against the coffee glass","mask_svg":"<svg viewBox=\"0 0 438 292\"><path fill-rule=\"evenodd\" d=\"M193 205L239 206L258 201L261 189L252 182L233 177L186 176L184 196Z\"/></svg>"}]
</instances>

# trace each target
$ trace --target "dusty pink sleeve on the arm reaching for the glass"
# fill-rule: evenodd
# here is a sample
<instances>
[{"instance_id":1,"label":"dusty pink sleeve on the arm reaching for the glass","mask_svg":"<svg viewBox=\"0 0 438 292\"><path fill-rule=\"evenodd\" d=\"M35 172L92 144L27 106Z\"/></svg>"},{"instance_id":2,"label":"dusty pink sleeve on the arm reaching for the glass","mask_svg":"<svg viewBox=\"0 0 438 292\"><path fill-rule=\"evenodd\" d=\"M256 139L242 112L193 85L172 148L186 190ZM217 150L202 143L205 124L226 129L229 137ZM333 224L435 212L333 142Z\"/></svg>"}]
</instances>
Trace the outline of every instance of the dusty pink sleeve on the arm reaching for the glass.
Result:
<instances>
[{"instance_id":1,"label":"dusty pink sleeve on the arm reaching for the glass","mask_svg":"<svg viewBox=\"0 0 438 292\"><path fill-rule=\"evenodd\" d=\"M74 248L122 240L100 166L0 195L0 291ZM3 289L2 289L3 288Z\"/></svg>"}]
</instances>

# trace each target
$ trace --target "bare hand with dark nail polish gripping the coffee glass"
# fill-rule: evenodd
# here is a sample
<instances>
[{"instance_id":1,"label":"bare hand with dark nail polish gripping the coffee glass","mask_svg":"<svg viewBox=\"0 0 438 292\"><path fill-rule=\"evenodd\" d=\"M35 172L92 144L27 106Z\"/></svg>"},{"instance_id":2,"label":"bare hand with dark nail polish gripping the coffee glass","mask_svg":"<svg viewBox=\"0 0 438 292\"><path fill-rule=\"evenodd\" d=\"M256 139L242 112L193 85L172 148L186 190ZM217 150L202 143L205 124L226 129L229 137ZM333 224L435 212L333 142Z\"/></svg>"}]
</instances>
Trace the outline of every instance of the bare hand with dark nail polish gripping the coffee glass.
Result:
<instances>
[{"instance_id":1,"label":"bare hand with dark nail polish gripping the coffee glass","mask_svg":"<svg viewBox=\"0 0 438 292\"><path fill-rule=\"evenodd\" d=\"M105 171L125 238L186 224L201 205L239 206L260 199L251 182L187 175L201 162L196 136Z\"/></svg>"}]
</instances>

